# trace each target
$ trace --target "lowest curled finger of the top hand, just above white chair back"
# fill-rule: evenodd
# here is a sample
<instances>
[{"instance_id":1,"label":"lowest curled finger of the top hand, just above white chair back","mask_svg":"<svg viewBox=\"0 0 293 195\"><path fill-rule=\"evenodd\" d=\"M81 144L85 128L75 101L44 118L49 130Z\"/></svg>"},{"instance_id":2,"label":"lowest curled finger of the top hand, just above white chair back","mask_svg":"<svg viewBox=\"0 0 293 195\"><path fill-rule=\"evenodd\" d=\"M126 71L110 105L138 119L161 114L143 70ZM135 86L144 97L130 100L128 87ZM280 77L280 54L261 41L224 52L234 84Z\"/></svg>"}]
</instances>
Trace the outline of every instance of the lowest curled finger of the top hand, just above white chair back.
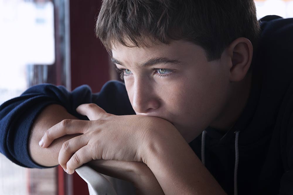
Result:
<instances>
[{"instance_id":1,"label":"lowest curled finger of the top hand, just above white chair back","mask_svg":"<svg viewBox=\"0 0 293 195\"><path fill-rule=\"evenodd\" d=\"M73 174L74 169L79 168L84 163L87 163L91 160L93 160L92 157L92 151L88 145L82 147L76 153L73 154L73 156L70 158L70 160L66 164L66 172L68 174Z\"/></svg>"}]
</instances>

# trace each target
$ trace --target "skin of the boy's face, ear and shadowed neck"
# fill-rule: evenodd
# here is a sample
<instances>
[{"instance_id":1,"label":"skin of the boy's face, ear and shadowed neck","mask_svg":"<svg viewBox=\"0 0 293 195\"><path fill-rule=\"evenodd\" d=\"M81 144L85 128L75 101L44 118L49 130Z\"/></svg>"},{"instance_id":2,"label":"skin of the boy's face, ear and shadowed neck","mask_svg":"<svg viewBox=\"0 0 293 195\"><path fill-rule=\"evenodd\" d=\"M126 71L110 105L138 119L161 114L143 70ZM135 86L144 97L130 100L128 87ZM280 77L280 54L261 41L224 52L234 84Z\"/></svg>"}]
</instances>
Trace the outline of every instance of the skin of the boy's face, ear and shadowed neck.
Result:
<instances>
[{"instance_id":1,"label":"skin of the boy's face, ear and shadowed neck","mask_svg":"<svg viewBox=\"0 0 293 195\"><path fill-rule=\"evenodd\" d=\"M150 48L118 44L112 54L117 68L127 69L124 80L135 113L168 120L187 142L207 126L229 130L248 99L251 75L243 78L251 63L252 46L245 38L236 39L219 61L211 62L200 46L184 41ZM142 67L149 59L162 57L182 64ZM159 77L153 68L170 71Z\"/></svg>"}]
</instances>

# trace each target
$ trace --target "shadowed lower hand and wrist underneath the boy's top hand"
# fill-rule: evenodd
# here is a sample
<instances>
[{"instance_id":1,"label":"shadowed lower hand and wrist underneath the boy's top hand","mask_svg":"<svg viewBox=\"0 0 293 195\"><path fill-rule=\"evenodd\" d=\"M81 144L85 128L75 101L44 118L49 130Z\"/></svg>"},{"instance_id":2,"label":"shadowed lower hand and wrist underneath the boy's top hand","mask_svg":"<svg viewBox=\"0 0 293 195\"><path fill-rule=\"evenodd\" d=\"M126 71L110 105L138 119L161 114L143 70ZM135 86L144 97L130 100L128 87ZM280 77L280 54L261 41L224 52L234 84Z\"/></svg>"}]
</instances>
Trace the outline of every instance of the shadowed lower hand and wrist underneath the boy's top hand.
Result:
<instances>
[{"instance_id":1,"label":"shadowed lower hand and wrist underneath the boy's top hand","mask_svg":"<svg viewBox=\"0 0 293 195\"><path fill-rule=\"evenodd\" d=\"M131 182L136 194L164 194L156 177L143 162L95 160L87 164L101 174Z\"/></svg>"}]
</instances>

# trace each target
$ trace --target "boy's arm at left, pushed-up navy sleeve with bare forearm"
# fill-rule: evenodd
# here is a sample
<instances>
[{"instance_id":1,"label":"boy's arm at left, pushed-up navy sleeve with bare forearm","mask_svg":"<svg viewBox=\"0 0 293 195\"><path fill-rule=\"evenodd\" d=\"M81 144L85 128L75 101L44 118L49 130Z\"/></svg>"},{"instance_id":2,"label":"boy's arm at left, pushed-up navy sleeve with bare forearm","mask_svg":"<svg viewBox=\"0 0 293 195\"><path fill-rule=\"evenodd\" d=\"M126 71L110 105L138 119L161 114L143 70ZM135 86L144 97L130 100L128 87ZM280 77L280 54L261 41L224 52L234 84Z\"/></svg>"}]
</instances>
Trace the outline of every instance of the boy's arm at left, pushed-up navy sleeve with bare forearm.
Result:
<instances>
[{"instance_id":1,"label":"boy's arm at left, pushed-up navy sleeve with bare forearm","mask_svg":"<svg viewBox=\"0 0 293 195\"><path fill-rule=\"evenodd\" d=\"M8 100L0 106L0 152L13 163L23 167L46 168L48 165L57 165L57 153L53 155L52 152L56 152L57 148L60 148L59 141L54 142L56 148L52 147L47 150L50 152L46 153L46 155L51 153L55 158L45 157L43 160L37 160L40 151L34 146L38 143L40 134L44 132L43 128L48 128L67 117L88 120L87 117L76 112L76 107L83 103L92 102L97 103L110 113L134 114L125 86L121 82L107 82L96 94L93 94L87 85L80 86L72 92L68 92L63 86L35 85L21 96ZM52 104L58 104L60 109L62 107L64 109L49 109ZM44 114L42 114L43 112ZM38 116L40 117L38 118ZM63 142L70 137L63 137L59 140ZM34 154L35 152L36 154ZM49 161L45 161L45 159ZM51 160L52 162L50 162ZM48 164L42 166L42 163Z\"/></svg>"}]
</instances>

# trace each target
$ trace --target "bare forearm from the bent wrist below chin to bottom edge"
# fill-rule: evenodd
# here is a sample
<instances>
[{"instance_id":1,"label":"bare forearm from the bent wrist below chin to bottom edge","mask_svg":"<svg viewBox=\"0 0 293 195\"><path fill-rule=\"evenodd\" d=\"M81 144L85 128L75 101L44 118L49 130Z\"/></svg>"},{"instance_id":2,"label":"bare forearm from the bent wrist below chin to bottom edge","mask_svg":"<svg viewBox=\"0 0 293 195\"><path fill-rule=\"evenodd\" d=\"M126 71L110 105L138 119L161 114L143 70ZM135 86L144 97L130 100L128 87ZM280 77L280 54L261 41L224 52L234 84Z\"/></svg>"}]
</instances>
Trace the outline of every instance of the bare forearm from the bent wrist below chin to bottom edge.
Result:
<instances>
[{"instance_id":1,"label":"bare forearm from the bent wrist below chin to bottom edge","mask_svg":"<svg viewBox=\"0 0 293 195\"><path fill-rule=\"evenodd\" d=\"M147 165L165 194L226 194L177 130L153 139Z\"/></svg>"}]
</instances>

